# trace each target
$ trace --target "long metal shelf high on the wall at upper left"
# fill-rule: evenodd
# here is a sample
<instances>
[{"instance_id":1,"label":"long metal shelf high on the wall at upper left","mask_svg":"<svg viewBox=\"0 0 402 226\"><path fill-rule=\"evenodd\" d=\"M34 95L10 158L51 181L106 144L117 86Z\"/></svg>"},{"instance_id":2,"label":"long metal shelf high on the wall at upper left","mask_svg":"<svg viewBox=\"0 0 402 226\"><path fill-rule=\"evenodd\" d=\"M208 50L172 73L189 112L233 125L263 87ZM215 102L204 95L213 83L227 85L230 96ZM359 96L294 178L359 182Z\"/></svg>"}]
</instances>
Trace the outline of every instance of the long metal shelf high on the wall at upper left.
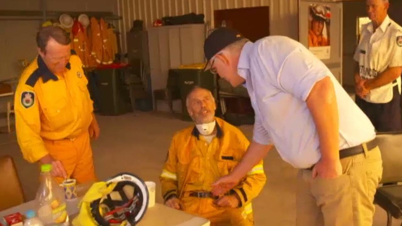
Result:
<instances>
[{"instance_id":1,"label":"long metal shelf high on the wall at upper left","mask_svg":"<svg viewBox=\"0 0 402 226\"><path fill-rule=\"evenodd\" d=\"M72 12L72 11L29 11L29 10L0 10L0 20L4 21L40 21L40 20L58 20L61 14L68 14L73 18L77 18L80 14L86 14L88 17L104 18L106 21L121 20L121 16L113 14L113 12Z\"/></svg>"}]
</instances>

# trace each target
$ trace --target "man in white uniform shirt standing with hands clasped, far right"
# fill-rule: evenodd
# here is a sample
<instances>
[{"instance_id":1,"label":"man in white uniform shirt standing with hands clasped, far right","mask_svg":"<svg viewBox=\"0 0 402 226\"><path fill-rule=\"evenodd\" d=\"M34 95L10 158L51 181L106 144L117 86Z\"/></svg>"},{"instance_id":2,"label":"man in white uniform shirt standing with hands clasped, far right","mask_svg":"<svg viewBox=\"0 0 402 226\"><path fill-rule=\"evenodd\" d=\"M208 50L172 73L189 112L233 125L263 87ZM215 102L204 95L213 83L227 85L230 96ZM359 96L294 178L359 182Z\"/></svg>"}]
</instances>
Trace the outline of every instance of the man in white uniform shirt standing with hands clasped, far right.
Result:
<instances>
[{"instance_id":1,"label":"man in white uniform shirt standing with hands clasped, far right","mask_svg":"<svg viewBox=\"0 0 402 226\"><path fill-rule=\"evenodd\" d=\"M388 0L367 0L371 23L362 27L354 59L356 104L380 132L402 130L402 27L387 15Z\"/></svg>"}]
</instances>

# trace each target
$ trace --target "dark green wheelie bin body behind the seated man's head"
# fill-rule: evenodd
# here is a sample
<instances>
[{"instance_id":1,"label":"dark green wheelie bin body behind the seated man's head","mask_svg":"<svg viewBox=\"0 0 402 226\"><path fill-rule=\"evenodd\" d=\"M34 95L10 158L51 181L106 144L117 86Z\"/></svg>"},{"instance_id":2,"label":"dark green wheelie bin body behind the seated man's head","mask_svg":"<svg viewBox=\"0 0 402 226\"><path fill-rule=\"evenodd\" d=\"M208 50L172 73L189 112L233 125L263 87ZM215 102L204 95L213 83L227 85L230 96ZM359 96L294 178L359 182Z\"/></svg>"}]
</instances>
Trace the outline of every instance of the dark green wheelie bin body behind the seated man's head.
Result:
<instances>
[{"instance_id":1,"label":"dark green wheelie bin body behind the seated man's head","mask_svg":"<svg viewBox=\"0 0 402 226\"><path fill-rule=\"evenodd\" d=\"M191 121L191 117L187 112L186 97L187 94L194 88L199 86L206 88L212 92L215 102L217 102L217 81L216 76L211 72L204 72L202 69L185 68L185 69L172 69L172 73L176 73L178 88L180 89L181 103L182 103L182 119Z\"/></svg>"}]
</instances>

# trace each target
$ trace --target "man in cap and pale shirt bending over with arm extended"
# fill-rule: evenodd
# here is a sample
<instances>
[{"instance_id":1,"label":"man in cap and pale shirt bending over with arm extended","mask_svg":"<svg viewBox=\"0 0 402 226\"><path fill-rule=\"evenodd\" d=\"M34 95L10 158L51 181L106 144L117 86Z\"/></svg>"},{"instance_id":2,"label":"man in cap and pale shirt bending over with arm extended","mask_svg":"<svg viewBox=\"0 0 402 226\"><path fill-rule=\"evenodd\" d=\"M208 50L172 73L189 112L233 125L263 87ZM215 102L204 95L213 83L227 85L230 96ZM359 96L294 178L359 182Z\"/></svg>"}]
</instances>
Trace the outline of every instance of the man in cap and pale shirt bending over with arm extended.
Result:
<instances>
[{"instance_id":1,"label":"man in cap and pale shirt bending over with arm extended","mask_svg":"<svg viewBox=\"0 0 402 226\"><path fill-rule=\"evenodd\" d=\"M330 70L283 36L251 43L219 28L205 40L204 52L205 69L246 86L256 114L247 153L213 184L213 193L231 189L275 145L300 169L297 226L371 225L381 153L370 120Z\"/></svg>"}]
</instances>

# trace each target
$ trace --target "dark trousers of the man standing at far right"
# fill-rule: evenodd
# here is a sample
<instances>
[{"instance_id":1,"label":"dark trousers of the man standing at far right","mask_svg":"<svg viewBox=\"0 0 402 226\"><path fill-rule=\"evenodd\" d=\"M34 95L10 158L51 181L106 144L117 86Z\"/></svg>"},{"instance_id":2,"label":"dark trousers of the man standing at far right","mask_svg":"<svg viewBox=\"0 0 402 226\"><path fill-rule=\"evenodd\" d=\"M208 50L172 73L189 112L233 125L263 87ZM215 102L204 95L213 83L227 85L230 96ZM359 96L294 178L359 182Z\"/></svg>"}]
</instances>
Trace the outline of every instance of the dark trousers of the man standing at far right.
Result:
<instances>
[{"instance_id":1,"label":"dark trousers of the man standing at far right","mask_svg":"<svg viewBox=\"0 0 402 226\"><path fill-rule=\"evenodd\" d=\"M356 95L356 104L369 117L377 132L402 130L401 95L398 86L393 88L394 96L388 103L369 103Z\"/></svg>"}]
</instances>

